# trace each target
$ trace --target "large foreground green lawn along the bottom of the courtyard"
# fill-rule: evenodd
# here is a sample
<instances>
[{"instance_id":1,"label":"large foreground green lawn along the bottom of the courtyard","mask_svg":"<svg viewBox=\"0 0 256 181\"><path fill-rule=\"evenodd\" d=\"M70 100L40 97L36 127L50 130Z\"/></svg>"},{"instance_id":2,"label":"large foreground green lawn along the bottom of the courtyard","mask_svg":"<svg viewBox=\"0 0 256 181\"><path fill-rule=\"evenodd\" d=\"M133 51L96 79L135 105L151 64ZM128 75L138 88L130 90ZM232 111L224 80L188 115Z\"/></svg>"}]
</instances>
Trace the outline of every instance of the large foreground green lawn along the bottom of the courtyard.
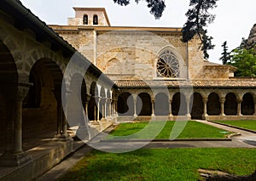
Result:
<instances>
[{"instance_id":1,"label":"large foreground green lawn along the bottom of the courtyard","mask_svg":"<svg viewBox=\"0 0 256 181\"><path fill-rule=\"evenodd\" d=\"M255 149L142 149L123 154L94 150L61 180L199 180L199 168L248 175L255 165Z\"/></svg>"}]
</instances>

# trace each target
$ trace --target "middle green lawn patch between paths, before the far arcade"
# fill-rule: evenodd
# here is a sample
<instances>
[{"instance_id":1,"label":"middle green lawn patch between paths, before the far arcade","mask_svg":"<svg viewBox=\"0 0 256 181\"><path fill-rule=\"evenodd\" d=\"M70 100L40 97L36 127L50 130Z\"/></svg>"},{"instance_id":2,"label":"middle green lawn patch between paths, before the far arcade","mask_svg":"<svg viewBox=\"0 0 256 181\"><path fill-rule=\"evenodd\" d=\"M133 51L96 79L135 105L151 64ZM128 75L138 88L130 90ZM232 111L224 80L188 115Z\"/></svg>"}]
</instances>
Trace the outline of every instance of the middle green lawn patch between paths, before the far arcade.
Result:
<instances>
[{"instance_id":1,"label":"middle green lawn patch between paths, before the far arcade","mask_svg":"<svg viewBox=\"0 0 256 181\"><path fill-rule=\"evenodd\" d=\"M116 127L111 135L113 136L125 136L130 135L132 133L137 133L143 129L148 124L148 122L136 122L136 123L121 123L118 127ZM143 135L137 135L134 137L135 139L148 139L151 136L151 130L154 130L154 127L157 127L160 122L151 122L151 126L148 129L148 132ZM165 127L158 134L156 139L169 139L170 133L172 132L172 127L175 122L166 122ZM201 139L201 138L212 138L219 139L225 138L229 132L226 132L217 127L211 127L209 125L203 124L201 122L187 122L184 127L182 133L180 133L177 139Z\"/></svg>"}]
</instances>

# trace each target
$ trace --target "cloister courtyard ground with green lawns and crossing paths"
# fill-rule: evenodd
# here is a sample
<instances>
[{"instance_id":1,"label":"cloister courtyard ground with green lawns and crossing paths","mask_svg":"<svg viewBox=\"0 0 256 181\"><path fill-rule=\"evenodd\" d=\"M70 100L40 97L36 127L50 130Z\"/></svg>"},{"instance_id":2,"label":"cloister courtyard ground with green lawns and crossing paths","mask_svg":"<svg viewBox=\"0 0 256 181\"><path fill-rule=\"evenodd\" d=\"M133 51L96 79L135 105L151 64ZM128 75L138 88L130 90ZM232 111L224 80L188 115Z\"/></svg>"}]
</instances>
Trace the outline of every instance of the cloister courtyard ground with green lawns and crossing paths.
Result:
<instances>
[{"instance_id":1,"label":"cloister courtyard ground with green lawns and crossing paths","mask_svg":"<svg viewBox=\"0 0 256 181\"><path fill-rule=\"evenodd\" d=\"M247 124L248 121L240 122ZM256 122L249 122L249 128L253 129ZM139 150L117 154L85 146L78 151L78 155L74 155L79 159L73 162L73 166L62 171L65 174L57 172L61 169L60 164L38 180L48 176L56 176L58 180L205 180L214 174L239 178L255 171L255 133L213 122L189 121L181 133L186 135L189 132L189 136L180 136L175 140L163 139L166 132L170 134L173 123L166 122L166 127L160 133L162 139L154 139ZM127 135L138 132L146 125L147 122L120 123L108 131L113 135ZM195 125L199 129L208 127L207 132L196 132ZM217 132L223 135L216 135ZM238 132L240 135L234 134ZM231 134L234 135L231 139L223 139ZM253 139L247 142L246 138ZM134 144L133 141L128 144ZM67 158L67 162L72 163L72 157Z\"/></svg>"}]
</instances>

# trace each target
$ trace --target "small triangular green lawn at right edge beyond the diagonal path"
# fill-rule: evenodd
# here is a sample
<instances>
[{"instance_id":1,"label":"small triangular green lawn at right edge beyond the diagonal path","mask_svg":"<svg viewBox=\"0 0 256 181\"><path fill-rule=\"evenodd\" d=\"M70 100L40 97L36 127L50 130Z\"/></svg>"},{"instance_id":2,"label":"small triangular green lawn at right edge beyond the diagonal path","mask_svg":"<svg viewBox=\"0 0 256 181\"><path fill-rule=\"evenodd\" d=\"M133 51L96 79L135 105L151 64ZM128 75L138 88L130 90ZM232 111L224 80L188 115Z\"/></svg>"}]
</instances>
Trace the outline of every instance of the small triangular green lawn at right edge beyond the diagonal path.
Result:
<instances>
[{"instance_id":1,"label":"small triangular green lawn at right edge beyond the diagonal path","mask_svg":"<svg viewBox=\"0 0 256 181\"><path fill-rule=\"evenodd\" d=\"M224 124L229 124L236 127L243 127L256 131L256 121L254 120L239 120L239 121L216 121Z\"/></svg>"}]
</instances>

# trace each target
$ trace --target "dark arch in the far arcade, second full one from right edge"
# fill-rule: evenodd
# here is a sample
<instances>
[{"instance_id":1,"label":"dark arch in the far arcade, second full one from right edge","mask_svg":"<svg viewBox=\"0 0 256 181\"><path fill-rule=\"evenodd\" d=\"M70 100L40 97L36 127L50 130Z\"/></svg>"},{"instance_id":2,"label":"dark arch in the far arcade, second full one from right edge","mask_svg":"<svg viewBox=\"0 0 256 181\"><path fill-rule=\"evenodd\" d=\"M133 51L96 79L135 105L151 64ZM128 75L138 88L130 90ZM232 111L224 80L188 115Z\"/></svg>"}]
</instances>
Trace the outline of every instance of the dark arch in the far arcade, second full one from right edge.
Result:
<instances>
[{"instance_id":1,"label":"dark arch in the far arcade, second full one from right edge","mask_svg":"<svg viewBox=\"0 0 256 181\"><path fill-rule=\"evenodd\" d=\"M237 114L236 94L228 93L224 102L224 114L227 116L235 116Z\"/></svg>"}]
</instances>

